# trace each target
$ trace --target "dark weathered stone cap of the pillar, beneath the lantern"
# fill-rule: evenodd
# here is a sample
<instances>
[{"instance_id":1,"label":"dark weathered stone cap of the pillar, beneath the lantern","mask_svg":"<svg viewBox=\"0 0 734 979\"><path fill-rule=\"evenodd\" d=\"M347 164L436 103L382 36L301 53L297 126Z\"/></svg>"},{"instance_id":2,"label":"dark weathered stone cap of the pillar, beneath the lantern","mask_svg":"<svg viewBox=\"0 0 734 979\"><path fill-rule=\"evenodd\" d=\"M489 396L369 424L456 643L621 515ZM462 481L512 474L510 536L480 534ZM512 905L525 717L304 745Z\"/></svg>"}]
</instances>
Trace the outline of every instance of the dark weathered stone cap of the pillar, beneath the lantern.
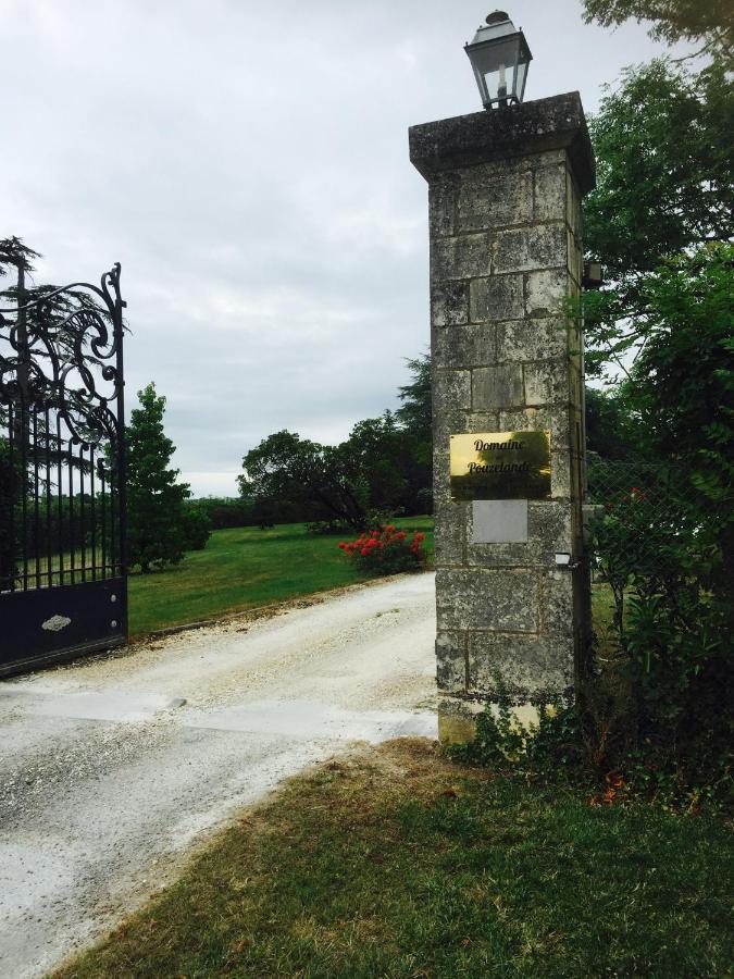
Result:
<instances>
[{"instance_id":1,"label":"dark weathered stone cap of the pillar, beneath the lantern","mask_svg":"<svg viewBox=\"0 0 734 979\"><path fill-rule=\"evenodd\" d=\"M568 149L582 195L596 186L594 150L577 91L483 110L409 129L410 160L427 181L490 160Z\"/></svg>"}]
</instances>

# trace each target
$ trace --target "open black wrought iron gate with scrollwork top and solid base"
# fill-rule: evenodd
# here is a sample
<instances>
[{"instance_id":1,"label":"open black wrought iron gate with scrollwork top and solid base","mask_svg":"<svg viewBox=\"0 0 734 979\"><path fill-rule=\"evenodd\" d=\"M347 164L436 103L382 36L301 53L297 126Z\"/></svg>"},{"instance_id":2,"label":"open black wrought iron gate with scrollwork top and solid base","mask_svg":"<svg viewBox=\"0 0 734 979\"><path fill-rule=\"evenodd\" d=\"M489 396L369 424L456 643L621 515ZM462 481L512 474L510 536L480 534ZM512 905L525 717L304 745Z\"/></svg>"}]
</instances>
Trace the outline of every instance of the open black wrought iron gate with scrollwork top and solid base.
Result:
<instances>
[{"instance_id":1,"label":"open black wrought iron gate with scrollwork top and solid base","mask_svg":"<svg viewBox=\"0 0 734 979\"><path fill-rule=\"evenodd\" d=\"M127 640L120 264L27 300L0 309L0 676Z\"/></svg>"}]
</instances>

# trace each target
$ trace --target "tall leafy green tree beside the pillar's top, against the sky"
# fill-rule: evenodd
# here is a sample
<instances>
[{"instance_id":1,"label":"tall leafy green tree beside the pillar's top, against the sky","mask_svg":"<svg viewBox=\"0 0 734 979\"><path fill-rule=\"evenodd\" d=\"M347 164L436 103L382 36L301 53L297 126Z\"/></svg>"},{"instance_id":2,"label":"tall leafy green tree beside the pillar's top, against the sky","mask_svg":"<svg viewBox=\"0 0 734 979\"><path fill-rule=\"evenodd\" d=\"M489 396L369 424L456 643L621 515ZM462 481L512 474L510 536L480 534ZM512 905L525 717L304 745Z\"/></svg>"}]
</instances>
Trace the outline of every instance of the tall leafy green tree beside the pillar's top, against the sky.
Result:
<instances>
[{"instance_id":1,"label":"tall leafy green tree beside the pillar's top, against the sky","mask_svg":"<svg viewBox=\"0 0 734 979\"><path fill-rule=\"evenodd\" d=\"M734 83L720 67L693 76L656 61L625 72L602 100L584 216L588 256L610 284L584 297L589 374L629 374L645 343L644 283L661 261L729 239L733 127Z\"/></svg>"}]
</instances>

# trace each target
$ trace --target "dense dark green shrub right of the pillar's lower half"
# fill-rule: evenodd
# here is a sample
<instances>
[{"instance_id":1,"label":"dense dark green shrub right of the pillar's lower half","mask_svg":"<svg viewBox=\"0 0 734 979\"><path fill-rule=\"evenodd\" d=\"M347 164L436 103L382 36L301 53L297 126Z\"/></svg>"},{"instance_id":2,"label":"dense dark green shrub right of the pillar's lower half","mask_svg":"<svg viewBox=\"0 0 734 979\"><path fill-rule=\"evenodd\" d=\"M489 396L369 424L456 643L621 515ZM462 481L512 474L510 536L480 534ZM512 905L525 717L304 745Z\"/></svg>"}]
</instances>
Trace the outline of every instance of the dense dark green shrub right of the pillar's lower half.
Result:
<instances>
[{"instance_id":1,"label":"dense dark green shrub right of the pillar's lower half","mask_svg":"<svg viewBox=\"0 0 734 979\"><path fill-rule=\"evenodd\" d=\"M597 652L607 661L611 654L606 672L624 698L599 761L683 795L727 791L734 717L721 520L685 467L607 463L589 473L604 503L592 550L614 603L611 640ZM587 699L584 716L599 728L604 718Z\"/></svg>"}]
</instances>

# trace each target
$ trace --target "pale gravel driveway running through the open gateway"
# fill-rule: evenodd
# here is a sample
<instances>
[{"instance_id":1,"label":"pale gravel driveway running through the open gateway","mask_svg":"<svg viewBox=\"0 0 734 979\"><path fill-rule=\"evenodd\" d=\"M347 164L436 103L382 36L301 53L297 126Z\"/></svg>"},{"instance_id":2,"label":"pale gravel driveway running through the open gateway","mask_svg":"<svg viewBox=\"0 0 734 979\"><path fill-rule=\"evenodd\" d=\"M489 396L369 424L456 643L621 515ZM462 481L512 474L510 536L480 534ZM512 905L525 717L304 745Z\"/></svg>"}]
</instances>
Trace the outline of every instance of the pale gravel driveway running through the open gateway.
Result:
<instances>
[{"instance_id":1,"label":"pale gravel driveway running through the open gateway","mask_svg":"<svg viewBox=\"0 0 734 979\"><path fill-rule=\"evenodd\" d=\"M434 579L0 682L0 977L52 968L349 742L436 735Z\"/></svg>"}]
</instances>

